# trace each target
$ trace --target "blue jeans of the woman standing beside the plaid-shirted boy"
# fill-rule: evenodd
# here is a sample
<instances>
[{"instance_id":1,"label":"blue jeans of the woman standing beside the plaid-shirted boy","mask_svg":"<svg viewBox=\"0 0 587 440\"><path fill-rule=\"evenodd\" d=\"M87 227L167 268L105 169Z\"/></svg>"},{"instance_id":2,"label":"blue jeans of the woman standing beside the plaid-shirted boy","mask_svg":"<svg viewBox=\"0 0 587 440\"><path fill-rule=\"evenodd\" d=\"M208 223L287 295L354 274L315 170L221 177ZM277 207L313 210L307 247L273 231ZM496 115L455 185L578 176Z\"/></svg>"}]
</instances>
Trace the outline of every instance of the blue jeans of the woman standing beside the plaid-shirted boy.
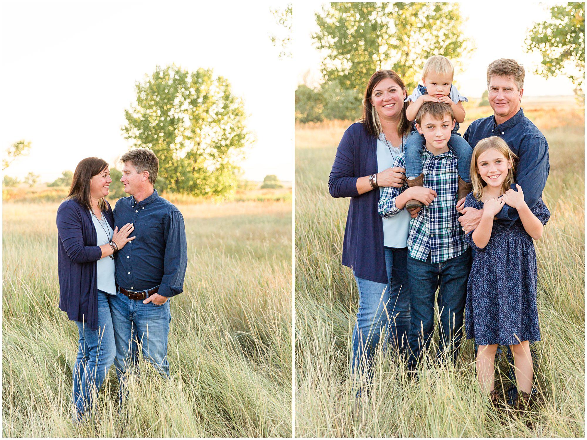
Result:
<instances>
[{"instance_id":1,"label":"blue jeans of the woman standing beside the plaid-shirted boy","mask_svg":"<svg viewBox=\"0 0 587 440\"><path fill-rule=\"evenodd\" d=\"M385 248L387 284L359 278L359 311L353 330L352 371L357 365L367 368L379 344L383 329L389 341L399 350L407 348L410 329L410 292L406 271L407 248Z\"/></svg>"}]
</instances>

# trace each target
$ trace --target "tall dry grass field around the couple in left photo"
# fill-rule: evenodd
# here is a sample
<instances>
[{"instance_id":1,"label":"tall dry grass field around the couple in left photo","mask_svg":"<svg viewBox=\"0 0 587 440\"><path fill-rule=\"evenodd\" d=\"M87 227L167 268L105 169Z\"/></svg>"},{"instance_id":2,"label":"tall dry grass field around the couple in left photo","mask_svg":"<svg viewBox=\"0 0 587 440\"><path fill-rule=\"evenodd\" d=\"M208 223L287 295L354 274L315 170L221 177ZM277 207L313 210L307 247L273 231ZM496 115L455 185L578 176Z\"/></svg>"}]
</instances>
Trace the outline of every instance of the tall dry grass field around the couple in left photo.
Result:
<instances>
[{"instance_id":1,"label":"tall dry grass field around the couple in left photo","mask_svg":"<svg viewBox=\"0 0 587 440\"><path fill-rule=\"evenodd\" d=\"M291 202L178 205L184 293L171 299L171 380L141 363L120 406L70 421L77 327L58 309L58 204L4 204L4 436L291 436Z\"/></svg>"}]
</instances>

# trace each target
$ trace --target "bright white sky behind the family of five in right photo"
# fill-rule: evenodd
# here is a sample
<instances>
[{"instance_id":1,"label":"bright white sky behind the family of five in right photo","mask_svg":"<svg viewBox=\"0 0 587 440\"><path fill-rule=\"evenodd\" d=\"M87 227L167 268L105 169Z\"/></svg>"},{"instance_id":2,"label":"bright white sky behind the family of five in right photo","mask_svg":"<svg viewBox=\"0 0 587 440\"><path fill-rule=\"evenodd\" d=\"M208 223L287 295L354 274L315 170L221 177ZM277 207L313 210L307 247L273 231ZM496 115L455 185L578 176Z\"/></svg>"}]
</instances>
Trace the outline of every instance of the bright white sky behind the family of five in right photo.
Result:
<instances>
[{"instance_id":1,"label":"bright white sky behind the family of five in right photo","mask_svg":"<svg viewBox=\"0 0 587 440\"><path fill-rule=\"evenodd\" d=\"M525 96L572 95L572 83L564 76L545 80L534 75L541 57L524 50L524 40L532 23L550 18L547 8L554 2L465 2L461 3L461 14L467 18L463 35L473 40L476 50L471 59L464 62L462 70L455 72L459 91L464 96L480 97L487 89L486 72L490 62L498 58L513 58L526 71ZM314 13L322 10L322 4L295 4L294 8L294 53L296 65L295 85L303 83L304 76L310 83L321 82L319 72L321 54L312 45L310 35L318 30ZM365 84L366 86L366 84ZM411 93L411 90L409 91Z\"/></svg>"}]
</instances>

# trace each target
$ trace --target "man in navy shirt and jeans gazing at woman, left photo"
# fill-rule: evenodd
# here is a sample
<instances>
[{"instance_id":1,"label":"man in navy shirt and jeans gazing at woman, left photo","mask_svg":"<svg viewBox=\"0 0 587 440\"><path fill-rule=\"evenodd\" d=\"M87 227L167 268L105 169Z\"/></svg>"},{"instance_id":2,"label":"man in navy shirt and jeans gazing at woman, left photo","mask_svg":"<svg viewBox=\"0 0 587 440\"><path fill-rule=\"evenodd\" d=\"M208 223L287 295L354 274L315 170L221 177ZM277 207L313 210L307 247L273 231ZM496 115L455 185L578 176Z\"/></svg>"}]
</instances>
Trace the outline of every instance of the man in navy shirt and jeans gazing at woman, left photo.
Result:
<instances>
[{"instance_id":1,"label":"man in navy shirt and jeans gazing at woman, left photo","mask_svg":"<svg viewBox=\"0 0 587 440\"><path fill-rule=\"evenodd\" d=\"M122 385L136 365L139 347L159 373L169 375L169 298L183 292L187 243L181 212L154 189L159 160L150 150L122 156L124 197L114 207L114 225L134 224L136 239L116 252L116 296L110 299L116 358ZM121 394L122 396L122 394Z\"/></svg>"}]
</instances>

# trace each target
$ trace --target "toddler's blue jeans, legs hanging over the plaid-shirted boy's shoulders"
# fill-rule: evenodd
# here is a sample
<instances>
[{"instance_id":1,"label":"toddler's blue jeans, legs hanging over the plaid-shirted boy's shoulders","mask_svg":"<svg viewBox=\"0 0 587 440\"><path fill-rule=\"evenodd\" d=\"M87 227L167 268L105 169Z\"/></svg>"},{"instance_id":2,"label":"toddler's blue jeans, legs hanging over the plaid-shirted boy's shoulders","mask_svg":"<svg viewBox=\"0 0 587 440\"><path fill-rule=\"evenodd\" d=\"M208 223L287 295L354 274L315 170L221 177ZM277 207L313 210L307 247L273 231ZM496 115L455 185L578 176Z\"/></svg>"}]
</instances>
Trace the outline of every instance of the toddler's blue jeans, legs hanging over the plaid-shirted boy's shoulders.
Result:
<instances>
[{"instance_id":1,"label":"toddler's blue jeans, legs hanging over the plaid-shirted boy's shoulders","mask_svg":"<svg viewBox=\"0 0 587 440\"><path fill-rule=\"evenodd\" d=\"M422 174L422 149L426 143L424 136L417 131L412 132L410 138L406 141L406 177L414 178ZM473 148L463 137L456 133L450 135L448 148L457 157L458 176L465 182L471 183L470 167Z\"/></svg>"}]
</instances>

